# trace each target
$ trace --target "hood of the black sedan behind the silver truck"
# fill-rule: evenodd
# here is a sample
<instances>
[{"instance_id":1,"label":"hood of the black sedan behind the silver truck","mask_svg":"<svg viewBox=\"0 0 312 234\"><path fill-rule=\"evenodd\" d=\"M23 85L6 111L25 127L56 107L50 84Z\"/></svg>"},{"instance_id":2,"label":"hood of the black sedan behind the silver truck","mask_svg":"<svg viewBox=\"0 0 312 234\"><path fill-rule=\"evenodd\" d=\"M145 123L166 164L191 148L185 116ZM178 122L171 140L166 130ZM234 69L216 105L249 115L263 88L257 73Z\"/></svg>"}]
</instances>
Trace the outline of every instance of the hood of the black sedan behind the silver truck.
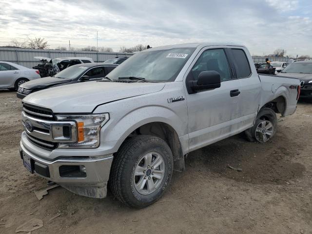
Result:
<instances>
[{"instance_id":1,"label":"hood of the black sedan behind the silver truck","mask_svg":"<svg viewBox=\"0 0 312 234\"><path fill-rule=\"evenodd\" d=\"M71 79L44 77L44 78L30 80L30 81L20 85L20 87L26 88L26 89L32 89L32 90L44 89L44 88L48 88L49 86L52 86L52 85L67 83L70 81L71 81Z\"/></svg>"}]
</instances>

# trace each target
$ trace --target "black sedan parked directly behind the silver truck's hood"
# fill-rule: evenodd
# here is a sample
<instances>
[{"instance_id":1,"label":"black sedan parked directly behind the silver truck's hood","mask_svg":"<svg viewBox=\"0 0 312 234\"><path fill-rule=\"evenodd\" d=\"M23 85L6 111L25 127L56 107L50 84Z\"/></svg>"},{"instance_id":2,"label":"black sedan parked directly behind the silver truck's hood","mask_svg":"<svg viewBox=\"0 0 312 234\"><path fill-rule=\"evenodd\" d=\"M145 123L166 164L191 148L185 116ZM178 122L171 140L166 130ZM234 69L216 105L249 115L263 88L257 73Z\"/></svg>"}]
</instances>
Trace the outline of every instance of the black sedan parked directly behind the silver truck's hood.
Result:
<instances>
[{"instance_id":1,"label":"black sedan parked directly behind the silver truck's hood","mask_svg":"<svg viewBox=\"0 0 312 234\"><path fill-rule=\"evenodd\" d=\"M106 77L118 64L83 63L64 69L53 77L31 80L20 85L16 96L25 98L30 93L65 84L93 81Z\"/></svg>"}]
</instances>

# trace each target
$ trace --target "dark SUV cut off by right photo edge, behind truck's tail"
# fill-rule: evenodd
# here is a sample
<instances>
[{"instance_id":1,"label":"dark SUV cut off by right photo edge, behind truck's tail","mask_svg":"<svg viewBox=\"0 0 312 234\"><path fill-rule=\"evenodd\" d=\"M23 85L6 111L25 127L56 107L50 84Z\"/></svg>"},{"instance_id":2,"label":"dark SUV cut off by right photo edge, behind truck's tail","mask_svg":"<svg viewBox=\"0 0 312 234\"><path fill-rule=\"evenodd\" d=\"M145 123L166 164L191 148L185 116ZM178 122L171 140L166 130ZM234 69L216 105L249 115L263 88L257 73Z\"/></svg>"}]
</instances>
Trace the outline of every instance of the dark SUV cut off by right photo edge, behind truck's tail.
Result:
<instances>
[{"instance_id":1,"label":"dark SUV cut off by right photo edge, behind truck's tail","mask_svg":"<svg viewBox=\"0 0 312 234\"><path fill-rule=\"evenodd\" d=\"M301 81L300 98L312 98L312 60L292 62L279 75L298 78Z\"/></svg>"}]
</instances>

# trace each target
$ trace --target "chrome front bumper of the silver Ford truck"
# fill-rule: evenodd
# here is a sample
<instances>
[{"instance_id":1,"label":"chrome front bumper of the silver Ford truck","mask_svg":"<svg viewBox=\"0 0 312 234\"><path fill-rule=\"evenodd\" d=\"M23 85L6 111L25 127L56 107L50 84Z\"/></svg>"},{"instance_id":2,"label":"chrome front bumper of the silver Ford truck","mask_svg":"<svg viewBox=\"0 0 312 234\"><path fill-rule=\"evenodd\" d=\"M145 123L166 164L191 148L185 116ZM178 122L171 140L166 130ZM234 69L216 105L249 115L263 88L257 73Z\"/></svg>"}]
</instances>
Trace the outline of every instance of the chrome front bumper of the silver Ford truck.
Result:
<instances>
[{"instance_id":1,"label":"chrome front bumper of the silver Ford truck","mask_svg":"<svg viewBox=\"0 0 312 234\"><path fill-rule=\"evenodd\" d=\"M71 156L59 157L54 161L48 161L36 156L25 148L20 141L20 156L28 156L33 165L33 172L38 176L58 183L65 189L83 196L104 198L107 192L107 181L113 155L104 156ZM79 173L64 173L64 168L85 167L85 175Z\"/></svg>"}]
</instances>

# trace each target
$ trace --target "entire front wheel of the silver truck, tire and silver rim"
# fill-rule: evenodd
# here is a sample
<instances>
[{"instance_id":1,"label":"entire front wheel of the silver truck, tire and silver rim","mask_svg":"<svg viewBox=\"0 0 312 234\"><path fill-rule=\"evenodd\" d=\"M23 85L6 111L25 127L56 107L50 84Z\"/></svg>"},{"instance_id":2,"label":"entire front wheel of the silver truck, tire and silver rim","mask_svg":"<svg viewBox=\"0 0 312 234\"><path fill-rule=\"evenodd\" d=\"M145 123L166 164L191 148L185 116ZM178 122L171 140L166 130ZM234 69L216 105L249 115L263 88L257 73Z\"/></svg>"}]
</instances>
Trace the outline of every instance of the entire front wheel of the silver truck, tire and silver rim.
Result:
<instances>
[{"instance_id":1,"label":"entire front wheel of the silver truck, tire and silver rim","mask_svg":"<svg viewBox=\"0 0 312 234\"><path fill-rule=\"evenodd\" d=\"M163 195L172 173L168 144L159 137L140 135L127 140L114 156L109 184L122 203L143 208Z\"/></svg>"}]
</instances>

